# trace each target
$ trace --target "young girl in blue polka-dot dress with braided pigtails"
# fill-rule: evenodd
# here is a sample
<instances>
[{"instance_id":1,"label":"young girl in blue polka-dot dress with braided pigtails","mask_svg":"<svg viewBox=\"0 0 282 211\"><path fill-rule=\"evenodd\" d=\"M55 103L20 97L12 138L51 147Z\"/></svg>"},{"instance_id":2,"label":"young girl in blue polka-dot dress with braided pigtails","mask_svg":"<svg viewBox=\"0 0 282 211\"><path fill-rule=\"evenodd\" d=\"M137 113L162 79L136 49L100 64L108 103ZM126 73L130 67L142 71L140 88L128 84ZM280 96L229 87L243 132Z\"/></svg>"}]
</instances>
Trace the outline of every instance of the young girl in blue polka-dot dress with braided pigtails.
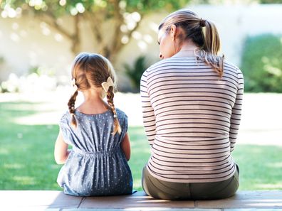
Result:
<instances>
[{"instance_id":1,"label":"young girl in blue polka-dot dress with braided pigtails","mask_svg":"<svg viewBox=\"0 0 282 211\"><path fill-rule=\"evenodd\" d=\"M80 53L72 77L75 92L61 118L54 151L56 163L64 163L58 184L68 195L131 194L127 116L113 104L113 66L102 55ZM84 102L75 109L78 91ZM105 95L108 104L103 101Z\"/></svg>"}]
</instances>

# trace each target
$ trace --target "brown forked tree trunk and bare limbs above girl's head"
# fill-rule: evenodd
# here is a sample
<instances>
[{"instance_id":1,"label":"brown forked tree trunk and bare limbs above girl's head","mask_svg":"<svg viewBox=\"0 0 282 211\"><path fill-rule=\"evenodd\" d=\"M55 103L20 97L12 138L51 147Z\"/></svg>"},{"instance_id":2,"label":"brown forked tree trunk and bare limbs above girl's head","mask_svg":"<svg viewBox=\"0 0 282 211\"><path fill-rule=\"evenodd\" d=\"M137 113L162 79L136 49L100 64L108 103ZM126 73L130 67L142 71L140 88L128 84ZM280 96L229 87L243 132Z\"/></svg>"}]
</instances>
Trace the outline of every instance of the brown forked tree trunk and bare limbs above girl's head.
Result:
<instances>
[{"instance_id":1,"label":"brown forked tree trunk and bare limbs above girl's head","mask_svg":"<svg viewBox=\"0 0 282 211\"><path fill-rule=\"evenodd\" d=\"M122 26L122 24L125 24L125 20L118 5L119 1L113 1L115 5L115 13L113 18L114 23L112 27L114 35L110 41L106 40L107 36L103 34L103 31L101 31L103 22L107 20L107 11L95 11L95 16L90 11L85 11L82 14L78 13L76 16L73 16L73 33L66 31L65 28L60 26L56 22L56 17L53 16L52 13L44 13L43 16L41 16L41 20L46 22L52 28L55 28L56 31L58 31L71 41L71 52L74 55L77 55L81 51L80 22L83 20L88 21L88 23L90 23L90 28L93 33L94 39L96 43L98 43L98 48L95 49L96 52L108 58L111 63L115 63L117 53L119 53L120 50L122 50L122 48L125 46L125 44L121 42L122 36L127 35L130 41L132 38L132 32L138 28L140 22L137 22L135 28L133 28L132 31L129 31L126 34L122 33L122 31L120 31L120 26Z\"/></svg>"}]
</instances>

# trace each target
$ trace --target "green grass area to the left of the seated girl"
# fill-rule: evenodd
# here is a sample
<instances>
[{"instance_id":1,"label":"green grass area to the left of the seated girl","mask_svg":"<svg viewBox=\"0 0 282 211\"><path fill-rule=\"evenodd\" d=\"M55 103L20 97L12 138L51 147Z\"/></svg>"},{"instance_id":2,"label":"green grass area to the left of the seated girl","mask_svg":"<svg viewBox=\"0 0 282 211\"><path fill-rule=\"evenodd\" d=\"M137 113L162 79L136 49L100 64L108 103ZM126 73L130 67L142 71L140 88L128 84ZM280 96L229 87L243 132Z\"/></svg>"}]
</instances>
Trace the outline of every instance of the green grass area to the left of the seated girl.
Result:
<instances>
[{"instance_id":1,"label":"green grass area to the left of the seated girl","mask_svg":"<svg viewBox=\"0 0 282 211\"><path fill-rule=\"evenodd\" d=\"M36 114L40 103L1 102L0 189L54 190L60 166L53 161L56 125L22 125L14 119Z\"/></svg>"}]
</instances>

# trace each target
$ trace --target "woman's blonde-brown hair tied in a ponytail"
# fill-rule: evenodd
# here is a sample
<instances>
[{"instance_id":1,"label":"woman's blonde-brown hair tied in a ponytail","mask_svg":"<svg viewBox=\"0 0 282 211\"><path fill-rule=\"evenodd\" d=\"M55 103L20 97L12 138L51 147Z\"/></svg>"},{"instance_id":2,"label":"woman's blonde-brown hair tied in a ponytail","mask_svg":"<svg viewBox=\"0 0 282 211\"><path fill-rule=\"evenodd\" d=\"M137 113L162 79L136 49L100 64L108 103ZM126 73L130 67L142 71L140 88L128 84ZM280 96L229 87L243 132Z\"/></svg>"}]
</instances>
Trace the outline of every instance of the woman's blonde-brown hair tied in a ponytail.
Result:
<instances>
[{"instance_id":1,"label":"woman's blonde-brown hair tied in a ponytail","mask_svg":"<svg viewBox=\"0 0 282 211\"><path fill-rule=\"evenodd\" d=\"M181 45L185 40L192 40L199 47L195 50L197 58L214 67L222 77L224 55L222 57L217 55L220 40L214 23L199 18L189 9L181 9L164 18L159 30L164 28L166 32L169 32L172 25L183 30L183 33L179 33L177 37L178 44Z\"/></svg>"}]
</instances>

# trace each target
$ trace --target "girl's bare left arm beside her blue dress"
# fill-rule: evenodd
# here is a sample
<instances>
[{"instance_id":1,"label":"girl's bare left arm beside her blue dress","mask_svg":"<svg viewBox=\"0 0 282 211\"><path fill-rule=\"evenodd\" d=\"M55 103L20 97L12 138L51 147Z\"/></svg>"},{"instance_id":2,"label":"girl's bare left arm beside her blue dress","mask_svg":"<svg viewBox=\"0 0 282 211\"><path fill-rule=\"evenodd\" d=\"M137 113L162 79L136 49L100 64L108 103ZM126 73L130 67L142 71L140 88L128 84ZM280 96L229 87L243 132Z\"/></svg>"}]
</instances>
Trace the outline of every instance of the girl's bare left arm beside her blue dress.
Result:
<instances>
[{"instance_id":1,"label":"girl's bare left arm beside her blue dress","mask_svg":"<svg viewBox=\"0 0 282 211\"><path fill-rule=\"evenodd\" d=\"M68 144L66 144L65 141L63 141L63 136L61 129L59 131L56 144L55 144L55 150L54 150L54 157L55 161L58 164L64 164L66 163L66 159L68 158L68 154L70 151L68 151Z\"/></svg>"}]
</instances>

